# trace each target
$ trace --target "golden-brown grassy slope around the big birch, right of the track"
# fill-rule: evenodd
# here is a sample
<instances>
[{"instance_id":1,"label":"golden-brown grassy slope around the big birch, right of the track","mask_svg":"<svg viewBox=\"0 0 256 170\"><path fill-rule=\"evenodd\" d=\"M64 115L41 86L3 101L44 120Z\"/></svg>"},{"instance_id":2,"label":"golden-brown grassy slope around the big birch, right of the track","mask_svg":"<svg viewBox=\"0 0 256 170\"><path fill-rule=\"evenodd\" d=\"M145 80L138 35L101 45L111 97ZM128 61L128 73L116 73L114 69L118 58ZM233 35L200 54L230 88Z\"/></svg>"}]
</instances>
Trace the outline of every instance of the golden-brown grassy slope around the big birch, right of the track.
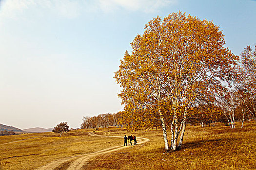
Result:
<instances>
[{"instance_id":1,"label":"golden-brown grassy slope around the big birch, right of the track","mask_svg":"<svg viewBox=\"0 0 256 170\"><path fill-rule=\"evenodd\" d=\"M136 149L101 155L84 170L256 170L256 123L186 129L182 150L165 153L161 131L138 132L151 139Z\"/></svg>"}]
</instances>

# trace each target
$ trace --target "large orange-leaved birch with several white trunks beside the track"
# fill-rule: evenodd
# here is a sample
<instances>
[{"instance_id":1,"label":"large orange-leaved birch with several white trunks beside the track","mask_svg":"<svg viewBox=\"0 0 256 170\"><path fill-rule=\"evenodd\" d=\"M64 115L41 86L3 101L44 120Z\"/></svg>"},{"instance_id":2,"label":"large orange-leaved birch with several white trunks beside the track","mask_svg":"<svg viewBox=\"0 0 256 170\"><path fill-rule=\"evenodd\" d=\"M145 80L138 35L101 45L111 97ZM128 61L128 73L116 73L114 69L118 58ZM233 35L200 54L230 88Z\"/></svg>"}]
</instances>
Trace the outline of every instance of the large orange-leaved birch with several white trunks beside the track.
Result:
<instances>
[{"instance_id":1,"label":"large orange-leaved birch with several white trunks beside the track","mask_svg":"<svg viewBox=\"0 0 256 170\"><path fill-rule=\"evenodd\" d=\"M197 99L221 94L226 89L223 82L229 85L236 77L238 57L224 44L224 35L213 22L181 12L149 21L115 73L127 120L149 121L144 126L158 119L165 150L180 149L192 116L189 109L197 106Z\"/></svg>"}]
</instances>

